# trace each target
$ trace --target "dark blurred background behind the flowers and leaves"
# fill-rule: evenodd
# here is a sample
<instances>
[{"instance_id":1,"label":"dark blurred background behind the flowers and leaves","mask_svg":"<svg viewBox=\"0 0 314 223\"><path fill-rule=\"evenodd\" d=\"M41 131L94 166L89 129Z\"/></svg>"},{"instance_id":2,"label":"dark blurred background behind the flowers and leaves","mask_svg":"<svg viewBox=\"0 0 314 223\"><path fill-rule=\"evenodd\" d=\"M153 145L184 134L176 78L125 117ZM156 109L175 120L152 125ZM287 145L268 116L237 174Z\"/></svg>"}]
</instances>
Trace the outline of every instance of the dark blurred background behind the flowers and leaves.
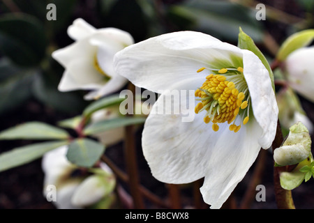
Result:
<instances>
[{"instance_id":1,"label":"dark blurred background behind the flowers and leaves","mask_svg":"<svg viewBox=\"0 0 314 223\"><path fill-rule=\"evenodd\" d=\"M47 20L48 3L57 7L57 20ZM266 20L256 20L258 3L266 6ZM26 121L55 125L82 113L89 101L85 92L61 93L57 86L63 68L51 53L73 43L66 30L83 18L96 28L116 27L128 31L135 43L172 31L208 33L237 45L239 26L253 38L271 62L283 40L296 31L314 28L312 0L1 0L0 1L0 131ZM301 98L314 121L314 106ZM0 141L0 153L31 141ZM151 192L167 197L165 185L155 180L142 157L140 131L137 140L140 180ZM107 155L124 169L123 144L107 148ZM251 208L276 208L272 183L272 157L267 153L261 184L266 202L253 201ZM244 196L253 169L234 190ZM314 208L313 179L292 191L297 208ZM188 207L191 194L182 188L182 203ZM151 206L154 208L154 206ZM41 160L0 173L0 208L54 208L43 197Z\"/></svg>"}]
</instances>

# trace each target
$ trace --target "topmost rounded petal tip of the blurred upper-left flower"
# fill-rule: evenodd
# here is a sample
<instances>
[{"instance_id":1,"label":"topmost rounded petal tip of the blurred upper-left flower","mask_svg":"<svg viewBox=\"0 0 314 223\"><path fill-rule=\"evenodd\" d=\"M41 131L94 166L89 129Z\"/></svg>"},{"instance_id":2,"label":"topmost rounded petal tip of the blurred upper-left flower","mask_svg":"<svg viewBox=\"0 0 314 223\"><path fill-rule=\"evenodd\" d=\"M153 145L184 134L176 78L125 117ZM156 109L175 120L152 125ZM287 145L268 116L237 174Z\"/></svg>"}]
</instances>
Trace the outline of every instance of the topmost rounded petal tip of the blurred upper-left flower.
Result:
<instances>
[{"instance_id":1,"label":"topmost rounded petal tip of the blurred upper-left flower","mask_svg":"<svg viewBox=\"0 0 314 223\"><path fill-rule=\"evenodd\" d=\"M68 36L73 40L82 40L95 32L96 28L81 18L74 20L73 24L68 27Z\"/></svg>"}]
</instances>

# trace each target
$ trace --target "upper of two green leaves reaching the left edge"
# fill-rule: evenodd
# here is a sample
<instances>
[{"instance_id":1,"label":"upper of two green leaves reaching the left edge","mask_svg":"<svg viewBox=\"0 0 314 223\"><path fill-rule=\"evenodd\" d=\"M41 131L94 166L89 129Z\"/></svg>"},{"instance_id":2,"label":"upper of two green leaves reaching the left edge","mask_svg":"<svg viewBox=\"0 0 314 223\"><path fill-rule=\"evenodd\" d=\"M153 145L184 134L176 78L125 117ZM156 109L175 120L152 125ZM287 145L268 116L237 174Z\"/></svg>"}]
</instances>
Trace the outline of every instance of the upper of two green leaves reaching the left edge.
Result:
<instances>
[{"instance_id":1,"label":"upper of two green leaves reaching the left edge","mask_svg":"<svg viewBox=\"0 0 314 223\"><path fill-rule=\"evenodd\" d=\"M28 122L0 132L0 139L68 139L68 132L40 122Z\"/></svg>"}]
</instances>

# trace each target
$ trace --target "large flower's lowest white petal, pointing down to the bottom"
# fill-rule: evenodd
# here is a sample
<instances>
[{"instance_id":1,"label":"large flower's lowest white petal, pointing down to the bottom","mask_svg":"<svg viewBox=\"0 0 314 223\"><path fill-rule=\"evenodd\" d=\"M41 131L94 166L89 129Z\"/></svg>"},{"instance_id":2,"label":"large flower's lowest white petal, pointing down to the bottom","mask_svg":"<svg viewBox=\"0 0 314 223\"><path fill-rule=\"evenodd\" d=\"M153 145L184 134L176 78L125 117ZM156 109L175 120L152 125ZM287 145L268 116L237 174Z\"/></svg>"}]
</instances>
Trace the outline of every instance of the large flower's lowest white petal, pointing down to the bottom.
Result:
<instances>
[{"instance_id":1,"label":"large flower's lowest white petal, pointing down to the bottom","mask_svg":"<svg viewBox=\"0 0 314 223\"><path fill-rule=\"evenodd\" d=\"M257 139L262 129L254 121L234 133L227 128L220 132L218 142L207 160L204 184L201 187L203 199L211 208L220 208L255 161L260 144Z\"/></svg>"}]
</instances>

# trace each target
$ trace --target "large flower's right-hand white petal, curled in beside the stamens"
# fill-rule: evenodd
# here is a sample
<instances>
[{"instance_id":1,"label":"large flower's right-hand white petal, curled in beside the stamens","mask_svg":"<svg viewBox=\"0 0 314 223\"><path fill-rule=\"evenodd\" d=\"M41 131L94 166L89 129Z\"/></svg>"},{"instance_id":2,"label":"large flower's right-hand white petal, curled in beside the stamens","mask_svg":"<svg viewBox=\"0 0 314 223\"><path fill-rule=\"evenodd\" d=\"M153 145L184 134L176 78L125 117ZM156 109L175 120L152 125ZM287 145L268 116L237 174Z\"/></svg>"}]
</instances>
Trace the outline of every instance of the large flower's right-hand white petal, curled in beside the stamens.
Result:
<instances>
[{"instance_id":1,"label":"large flower's right-hand white petal, curled in beside the stamens","mask_svg":"<svg viewBox=\"0 0 314 223\"><path fill-rule=\"evenodd\" d=\"M250 91L253 114L263 130L258 139L262 148L269 148L274 141L278 120L278 106L271 86L269 72L260 59L248 50L243 50L244 77Z\"/></svg>"}]
</instances>

